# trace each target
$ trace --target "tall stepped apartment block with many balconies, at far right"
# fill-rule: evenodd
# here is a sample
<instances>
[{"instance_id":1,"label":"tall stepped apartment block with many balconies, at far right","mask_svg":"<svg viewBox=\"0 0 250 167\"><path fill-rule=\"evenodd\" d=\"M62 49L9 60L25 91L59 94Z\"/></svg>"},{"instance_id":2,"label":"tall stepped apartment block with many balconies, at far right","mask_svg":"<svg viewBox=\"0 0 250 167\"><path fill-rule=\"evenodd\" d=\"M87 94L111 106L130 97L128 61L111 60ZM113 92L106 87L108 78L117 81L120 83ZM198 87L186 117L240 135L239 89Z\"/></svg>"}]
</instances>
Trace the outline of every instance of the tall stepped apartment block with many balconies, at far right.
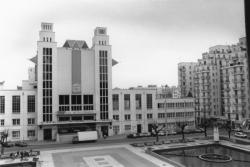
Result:
<instances>
[{"instance_id":1,"label":"tall stepped apartment block with many balconies, at far right","mask_svg":"<svg viewBox=\"0 0 250 167\"><path fill-rule=\"evenodd\" d=\"M249 119L248 81L246 38L240 38L236 45L209 48L195 66L197 122L219 118L239 125Z\"/></svg>"}]
</instances>

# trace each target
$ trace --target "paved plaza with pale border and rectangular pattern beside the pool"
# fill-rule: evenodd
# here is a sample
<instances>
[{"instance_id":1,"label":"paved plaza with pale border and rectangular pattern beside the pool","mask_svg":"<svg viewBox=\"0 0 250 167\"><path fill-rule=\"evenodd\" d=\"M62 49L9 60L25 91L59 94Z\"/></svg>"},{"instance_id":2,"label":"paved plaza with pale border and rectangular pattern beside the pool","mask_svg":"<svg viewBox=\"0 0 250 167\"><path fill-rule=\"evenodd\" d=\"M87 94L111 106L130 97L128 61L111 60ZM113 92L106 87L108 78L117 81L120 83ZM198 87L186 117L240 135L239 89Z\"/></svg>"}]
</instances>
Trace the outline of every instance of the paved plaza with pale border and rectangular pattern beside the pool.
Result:
<instances>
[{"instance_id":1,"label":"paved plaza with pale border and rectangular pattern beside the pool","mask_svg":"<svg viewBox=\"0 0 250 167\"><path fill-rule=\"evenodd\" d=\"M43 151L41 167L173 167L130 145Z\"/></svg>"}]
</instances>

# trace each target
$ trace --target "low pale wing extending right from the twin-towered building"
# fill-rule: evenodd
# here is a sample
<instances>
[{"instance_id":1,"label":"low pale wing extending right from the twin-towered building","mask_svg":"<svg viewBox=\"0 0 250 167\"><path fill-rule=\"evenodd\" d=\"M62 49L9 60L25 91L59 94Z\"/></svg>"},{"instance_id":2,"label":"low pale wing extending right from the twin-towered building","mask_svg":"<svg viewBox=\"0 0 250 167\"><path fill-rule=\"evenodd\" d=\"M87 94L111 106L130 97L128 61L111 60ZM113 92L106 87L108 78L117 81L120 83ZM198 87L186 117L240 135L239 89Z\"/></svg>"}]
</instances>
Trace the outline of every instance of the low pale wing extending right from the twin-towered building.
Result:
<instances>
[{"instance_id":1,"label":"low pale wing extending right from the twin-towered building","mask_svg":"<svg viewBox=\"0 0 250 167\"><path fill-rule=\"evenodd\" d=\"M193 98L168 98L160 88L113 89L113 133L152 132L152 125L195 127Z\"/></svg>"}]
</instances>

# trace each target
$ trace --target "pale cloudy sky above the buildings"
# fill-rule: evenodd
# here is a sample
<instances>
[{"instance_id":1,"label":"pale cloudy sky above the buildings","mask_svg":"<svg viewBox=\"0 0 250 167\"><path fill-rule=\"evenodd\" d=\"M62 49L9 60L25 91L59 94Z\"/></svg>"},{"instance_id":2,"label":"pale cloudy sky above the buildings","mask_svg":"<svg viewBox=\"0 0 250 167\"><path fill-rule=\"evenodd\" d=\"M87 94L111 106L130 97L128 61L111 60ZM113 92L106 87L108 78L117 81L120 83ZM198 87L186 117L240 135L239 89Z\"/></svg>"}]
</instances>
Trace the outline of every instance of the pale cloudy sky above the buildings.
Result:
<instances>
[{"instance_id":1,"label":"pale cloudy sky above the buildings","mask_svg":"<svg viewBox=\"0 0 250 167\"><path fill-rule=\"evenodd\" d=\"M214 45L245 36L243 0L8 0L0 6L0 81L15 89L28 79L41 22L54 23L57 45L92 45L107 27L113 87L178 85L178 63L196 62Z\"/></svg>"}]
</instances>

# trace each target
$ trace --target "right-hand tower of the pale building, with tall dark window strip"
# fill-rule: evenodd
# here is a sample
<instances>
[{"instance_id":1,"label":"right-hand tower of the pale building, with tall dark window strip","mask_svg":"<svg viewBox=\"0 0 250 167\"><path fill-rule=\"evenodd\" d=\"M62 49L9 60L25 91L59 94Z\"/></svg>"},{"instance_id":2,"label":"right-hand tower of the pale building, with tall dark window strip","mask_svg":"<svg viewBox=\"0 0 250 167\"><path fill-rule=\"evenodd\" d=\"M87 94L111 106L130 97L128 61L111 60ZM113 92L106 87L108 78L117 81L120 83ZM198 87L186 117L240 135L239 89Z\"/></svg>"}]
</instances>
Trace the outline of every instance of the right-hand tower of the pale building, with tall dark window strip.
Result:
<instances>
[{"instance_id":1,"label":"right-hand tower of the pale building, with tall dark window strip","mask_svg":"<svg viewBox=\"0 0 250 167\"><path fill-rule=\"evenodd\" d=\"M93 46L95 55L95 93L97 109L100 114L97 119L108 121L112 119L112 55L107 29L97 27L94 31ZM108 131L108 126L101 127Z\"/></svg>"}]
</instances>

